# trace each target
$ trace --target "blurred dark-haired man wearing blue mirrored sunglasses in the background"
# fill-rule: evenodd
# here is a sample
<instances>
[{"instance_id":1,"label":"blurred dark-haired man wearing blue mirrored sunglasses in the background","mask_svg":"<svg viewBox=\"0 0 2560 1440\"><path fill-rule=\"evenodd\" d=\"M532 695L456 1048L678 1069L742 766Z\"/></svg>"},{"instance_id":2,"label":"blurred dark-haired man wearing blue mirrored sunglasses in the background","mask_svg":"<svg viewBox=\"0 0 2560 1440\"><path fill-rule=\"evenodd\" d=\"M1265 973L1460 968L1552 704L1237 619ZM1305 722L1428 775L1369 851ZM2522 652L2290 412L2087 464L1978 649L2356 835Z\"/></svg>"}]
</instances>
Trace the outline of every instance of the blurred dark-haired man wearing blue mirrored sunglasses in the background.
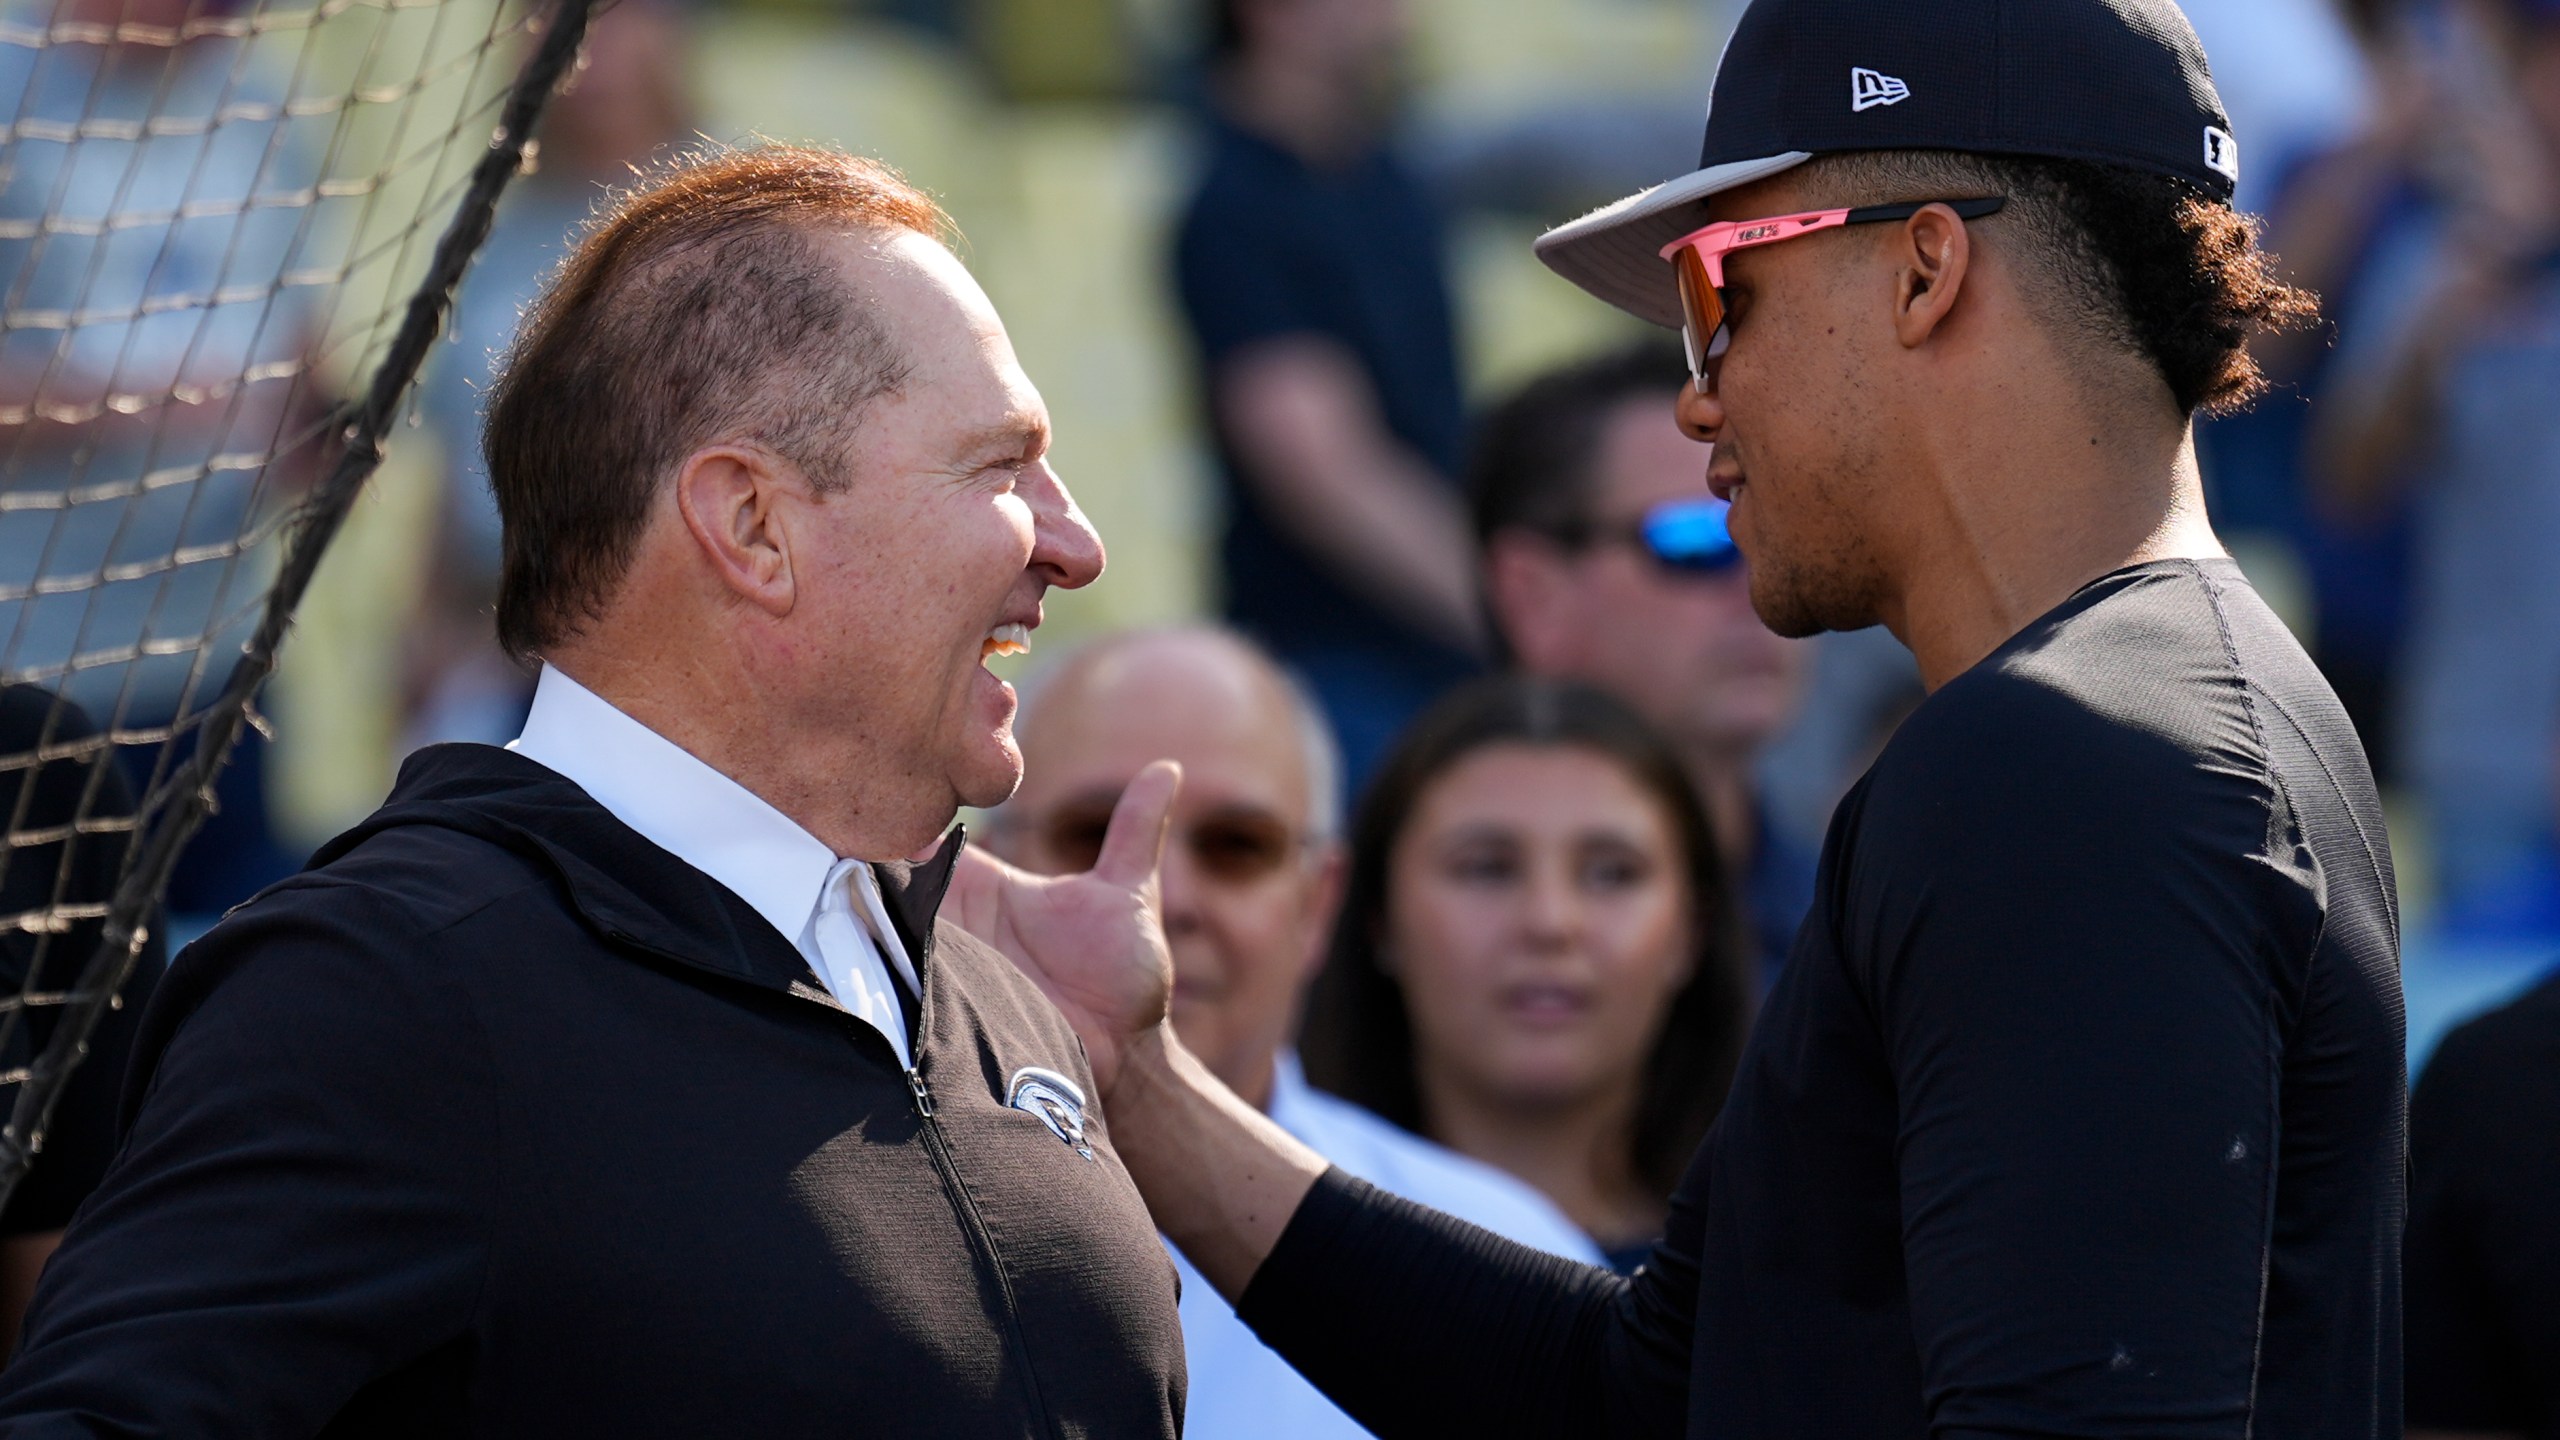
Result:
<instances>
[{"instance_id":1,"label":"blurred dark-haired man wearing blue mirrored sunglasses in the background","mask_svg":"<svg viewBox=\"0 0 2560 1440\"><path fill-rule=\"evenodd\" d=\"M1769 974L1812 856L1769 825L1754 761L1795 715L1805 643L1751 612L1708 454L1672 418L1682 379L1677 346L1638 346L1505 400L1477 438L1475 530L1513 664L1618 694L1679 748Z\"/></svg>"}]
</instances>

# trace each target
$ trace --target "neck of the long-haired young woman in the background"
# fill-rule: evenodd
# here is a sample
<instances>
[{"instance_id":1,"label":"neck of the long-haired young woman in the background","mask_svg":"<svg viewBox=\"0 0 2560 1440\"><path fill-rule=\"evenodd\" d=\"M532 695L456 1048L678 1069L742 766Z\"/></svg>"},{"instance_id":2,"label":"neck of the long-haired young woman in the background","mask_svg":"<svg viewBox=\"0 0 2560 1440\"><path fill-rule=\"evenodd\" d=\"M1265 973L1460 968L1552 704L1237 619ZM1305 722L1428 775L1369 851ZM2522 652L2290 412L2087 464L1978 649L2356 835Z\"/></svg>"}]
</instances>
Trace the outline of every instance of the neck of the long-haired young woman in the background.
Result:
<instances>
[{"instance_id":1,"label":"neck of the long-haired young woman in the background","mask_svg":"<svg viewBox=\"0 0 2560 1440\"><path fill-rule=\"evenodd\" d=\"M1628 1150L1633 1076L1623 1086L1546 1107L1482 1097L1428 1068L1416 1079L1434 1140L1528 1181L1585 1235L1615 1245L1661 1227L1664 1199L1636 1179Z\"/></svg>"}]
</instances>

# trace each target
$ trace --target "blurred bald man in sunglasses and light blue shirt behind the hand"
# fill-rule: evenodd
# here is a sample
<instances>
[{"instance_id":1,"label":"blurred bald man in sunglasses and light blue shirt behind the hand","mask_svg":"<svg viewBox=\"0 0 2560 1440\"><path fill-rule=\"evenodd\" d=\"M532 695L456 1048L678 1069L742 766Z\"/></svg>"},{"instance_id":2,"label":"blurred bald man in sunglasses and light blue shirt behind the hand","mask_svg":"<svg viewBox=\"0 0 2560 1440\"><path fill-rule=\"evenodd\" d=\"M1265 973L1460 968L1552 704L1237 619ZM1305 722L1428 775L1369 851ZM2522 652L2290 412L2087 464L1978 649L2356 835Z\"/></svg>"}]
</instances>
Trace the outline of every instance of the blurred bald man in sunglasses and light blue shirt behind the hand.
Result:
<instances>
[{"instance_id":1,"label":"blurred bald man in sunglasses and light blue shirt behind the hand","mask_svg":"<svg viewBox=\"0 0 2560 1440\"><path fill-rule=\"evenodd\" d=\"M1288 1133L1375 1186L1577 1261L1590 1238L1521 1181L1313 1092L1288 1043L1341 902L1331 730L1306 692L1224 630L1137 630L1039 676L1016 720L1024 781L991 846L1037 874L1093 869L1149 761L1183 764L1162 922L1183 1043ZM1175 1256L1180 1263L1180 1256ZM1183 1271L1193 1440L1367 1435Z\"/></svg>"}]
</instances>

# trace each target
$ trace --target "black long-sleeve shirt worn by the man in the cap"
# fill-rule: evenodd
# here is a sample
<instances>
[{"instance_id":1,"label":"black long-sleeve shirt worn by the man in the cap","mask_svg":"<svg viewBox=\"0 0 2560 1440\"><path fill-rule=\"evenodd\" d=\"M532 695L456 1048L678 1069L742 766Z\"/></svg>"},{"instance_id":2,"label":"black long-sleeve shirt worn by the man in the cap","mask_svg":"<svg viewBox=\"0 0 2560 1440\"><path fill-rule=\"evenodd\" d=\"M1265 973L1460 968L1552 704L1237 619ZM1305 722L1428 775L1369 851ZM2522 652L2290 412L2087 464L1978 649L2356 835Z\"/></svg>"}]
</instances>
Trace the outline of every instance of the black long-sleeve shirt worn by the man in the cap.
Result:
<instances>
[{"instance_id":1,"label":"black long-sleeve shirt worn by the man in the cap","mask_svg":"<svg viewBox=\"0 0 2560 1440\"><path fill-rule=\"evenodd\" d=\"M1254 1330L1408 1435L2399 1435L2399 915L2230 561L1928 700L1633 1281L1326 1176Z\"/></svg>"}]
</instances>

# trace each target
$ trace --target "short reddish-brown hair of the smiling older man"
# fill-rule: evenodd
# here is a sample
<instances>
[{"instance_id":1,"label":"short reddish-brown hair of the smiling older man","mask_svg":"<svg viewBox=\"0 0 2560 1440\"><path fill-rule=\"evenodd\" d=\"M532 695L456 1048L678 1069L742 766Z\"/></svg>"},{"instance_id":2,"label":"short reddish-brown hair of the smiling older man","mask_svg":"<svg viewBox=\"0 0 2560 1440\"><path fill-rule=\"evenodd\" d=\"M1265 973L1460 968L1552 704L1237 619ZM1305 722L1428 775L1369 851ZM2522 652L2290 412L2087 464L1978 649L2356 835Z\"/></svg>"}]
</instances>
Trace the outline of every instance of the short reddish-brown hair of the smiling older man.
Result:
<instances>
[{"instance_id":1,"label":"short reddish-brown hair of the smiling older man","mask_svg":"<svg viewBox=\"0 0 2560 1440\"><path fill-rule=\"evenodd\" d=\"M650 500L701 446L755 441L829 482L863 407L906 382L812 243L845 228L952 233L891 167L809 146L678 156L586 223L525 315L481 433L509 653L602 615Z\"/></svg>"}]
</instances>

